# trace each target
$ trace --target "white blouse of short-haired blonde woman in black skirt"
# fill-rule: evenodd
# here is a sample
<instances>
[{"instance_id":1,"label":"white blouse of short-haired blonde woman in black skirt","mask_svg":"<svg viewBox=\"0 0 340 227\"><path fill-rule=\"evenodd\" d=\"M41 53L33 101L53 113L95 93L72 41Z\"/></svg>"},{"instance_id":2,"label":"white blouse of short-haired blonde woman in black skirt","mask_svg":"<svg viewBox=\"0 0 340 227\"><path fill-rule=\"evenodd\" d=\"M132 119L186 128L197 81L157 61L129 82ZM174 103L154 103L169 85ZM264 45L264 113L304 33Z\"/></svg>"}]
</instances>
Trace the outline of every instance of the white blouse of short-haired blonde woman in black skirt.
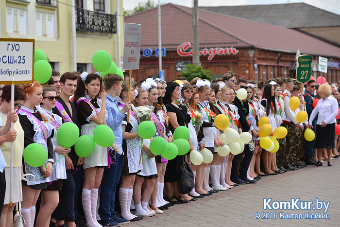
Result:
<instances>
[{"instance_id":1,"label":"white blouse of short-haired blonde woman in black skirt","mask_svg":"<svg viewBox=\"0 0 340 227\"><path fill-rule=\"evenodd\" d=\"M318 121L316 124L322 124L322 122L325 122L326 124L337 122L335 119L335 117L338 115L337 100L331 95L324 100L320 99L309 117L309 124L312 124L312 121L318 113Z\"/></svg>"}]
</instances>

